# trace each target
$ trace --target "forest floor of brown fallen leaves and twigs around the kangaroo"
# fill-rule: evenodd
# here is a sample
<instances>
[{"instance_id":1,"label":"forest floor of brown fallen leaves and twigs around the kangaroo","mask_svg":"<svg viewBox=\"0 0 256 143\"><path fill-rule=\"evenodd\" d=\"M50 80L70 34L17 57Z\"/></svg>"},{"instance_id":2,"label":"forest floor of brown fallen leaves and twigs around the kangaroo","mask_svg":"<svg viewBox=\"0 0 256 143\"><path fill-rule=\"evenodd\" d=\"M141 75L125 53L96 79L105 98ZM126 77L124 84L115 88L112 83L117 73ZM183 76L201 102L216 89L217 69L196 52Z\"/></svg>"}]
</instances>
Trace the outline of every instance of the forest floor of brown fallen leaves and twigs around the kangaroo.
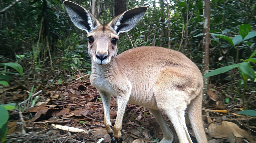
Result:
<instances>
[{"instance_id":1,"label":"forest floor of brown fallen leaves and twigs around the kangaroo","mask_svg":"<svg viewBox=\"0 0 256 143\"><path fill-rule=\"evenodd\" d=\"M81 76L75 74L75 79L68 79L67 82L60 84L50 75L43 83L35 83L33 78L22 80L13 76L9 87L0 88L2 104L19 103L19 109L9 111L6 142L110 142L111 138L103 124L101 98L96 88L90 85L89 78L80 78ZM45 76L36 77L42 79ZM32 99L23 102L29 97L32 85L35 85L32 97L39 97L34 107L31 107ZM227 86L212 85L214 90L208 91L208 99L203 103L204 128L209 143L255 143L256 118L236 114L243 108L239 98L230 101L229 104L223 103L224 99L219 95ZM248 108L254 110L255 95L246 96L251 97ZM117 116L117 103L114 97L111 99L110 109L110 118L114 125ZM163 116L175 134L173 142L178 143L172 123L164 113ZM186 124L193 142L196 143L187 115ZM59 129L60 127L56 128L54 125L64 127ZM77 133L78 131L70 127L89 132ZM122 135L126 143L157 143L163 137L157 121L149 110L134 104L127 105Z\"/></svg>"}]
</instances>

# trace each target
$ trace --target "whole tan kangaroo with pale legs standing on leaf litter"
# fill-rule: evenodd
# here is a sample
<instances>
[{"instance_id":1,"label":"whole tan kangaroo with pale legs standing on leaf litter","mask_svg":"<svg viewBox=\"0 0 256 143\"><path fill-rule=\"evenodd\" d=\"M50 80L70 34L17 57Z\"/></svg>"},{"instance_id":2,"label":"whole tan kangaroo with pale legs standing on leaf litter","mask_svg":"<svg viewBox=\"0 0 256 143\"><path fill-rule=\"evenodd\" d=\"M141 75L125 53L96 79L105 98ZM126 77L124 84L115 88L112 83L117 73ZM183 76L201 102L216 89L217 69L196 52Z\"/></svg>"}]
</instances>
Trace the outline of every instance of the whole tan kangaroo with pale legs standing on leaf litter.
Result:
<instances>
[{"instance_id":1,"label":"whole tan kangaroo with pale legs standing on leaf litter","mask_svg":"<svg viewBox=\"0 0 256 143\"><path fill-rule=\"evenodd\" d=\"M160 143L171 143L173 133L164 121L171 120L180 143L192 143L185 124L185 110L198 143L207 143L202 119L203 77L198 67L175 50L142 46L117 55L118 35L131 30L147 7L129 9L102 25L89 11L64 1L71 21L87 32L92 68L90 82L98 90L104 107L104 125L112 143L121 143L126 104L139 104L153 114L163 133ZM114 131L110 122L111 95L117 97Z\"/></svg>"}]
</instances>

